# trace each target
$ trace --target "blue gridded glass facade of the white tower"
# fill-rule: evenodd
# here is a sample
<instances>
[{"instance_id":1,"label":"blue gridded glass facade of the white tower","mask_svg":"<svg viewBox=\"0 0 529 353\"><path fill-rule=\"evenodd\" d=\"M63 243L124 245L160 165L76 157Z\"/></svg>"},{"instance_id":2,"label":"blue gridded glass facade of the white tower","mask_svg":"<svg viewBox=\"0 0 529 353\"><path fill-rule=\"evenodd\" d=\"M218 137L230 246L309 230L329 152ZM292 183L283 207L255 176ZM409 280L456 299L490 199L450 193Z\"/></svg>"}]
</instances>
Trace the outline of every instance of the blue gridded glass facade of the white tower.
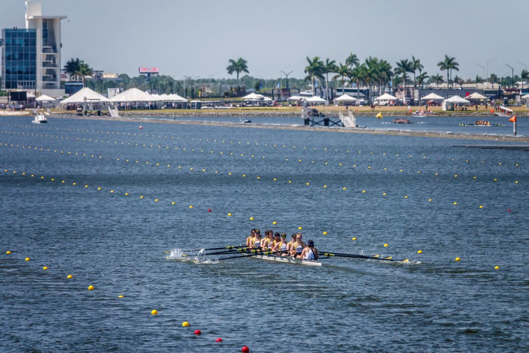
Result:
<instances>
[{"instance_id":1,"label":"blue gridded glass facade of the white tower","mask_svg":"<svg viewBox=\"0 0 529 353\"><path fill-rule=\"evenodd\" d=\"M2 88L35 89L37 85L37 30L2 30Z\"/></svg>"}]
</instances>

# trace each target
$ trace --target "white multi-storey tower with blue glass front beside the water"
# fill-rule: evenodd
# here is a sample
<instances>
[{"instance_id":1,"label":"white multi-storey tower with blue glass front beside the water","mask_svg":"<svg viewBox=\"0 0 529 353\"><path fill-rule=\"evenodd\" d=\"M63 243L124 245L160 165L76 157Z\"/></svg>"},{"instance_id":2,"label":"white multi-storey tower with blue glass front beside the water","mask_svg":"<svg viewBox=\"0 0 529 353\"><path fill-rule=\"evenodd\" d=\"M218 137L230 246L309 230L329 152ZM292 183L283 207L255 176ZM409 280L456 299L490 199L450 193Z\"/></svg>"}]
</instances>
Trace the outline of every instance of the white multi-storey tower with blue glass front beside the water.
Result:
<instances>
[{"instance_id":1,"label":"white multi-storey tower with blue glass front beside the water","mask_svg":"<svg viewBox=\"0 0 529 353\"><path fill-rule=\"evenodd\" d=\"M23 89L59 97L61 20L42 15L39 2L26 1L25 29L2 30L2 89Z\"/></svg>"}]
</instances>

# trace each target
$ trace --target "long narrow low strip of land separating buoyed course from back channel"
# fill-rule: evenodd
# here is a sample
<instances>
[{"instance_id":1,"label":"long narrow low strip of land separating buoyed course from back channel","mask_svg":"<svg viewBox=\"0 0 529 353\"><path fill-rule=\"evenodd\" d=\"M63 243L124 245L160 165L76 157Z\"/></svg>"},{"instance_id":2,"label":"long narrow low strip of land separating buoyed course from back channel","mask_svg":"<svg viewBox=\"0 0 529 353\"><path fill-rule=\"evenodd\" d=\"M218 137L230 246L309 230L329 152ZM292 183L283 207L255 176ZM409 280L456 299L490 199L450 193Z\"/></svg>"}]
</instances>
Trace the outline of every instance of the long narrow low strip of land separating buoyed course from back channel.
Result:
<instances>
[{"instance_id":1,"label":"long narrow low strip of land separating buoyed course from back channel","mask_svg":"<svg viewBox=\"0 0 529 353\"><path fill-rule=\"evenodd\" d=\"M275 115L277 116L277 115ZM482 140L482 141L504 141L504 142L525 142L529 143L529 136L514 135L486 135L486 134L463 134L439 131L413 131L397 129L361 129L361 128L343 128L338 126L305 126L293 124L241 124L232 122L217 121L197 121L197 120L169 120L169 119L150 119L148 117L120 117L111 118L106 116L76 116L76 115L51 115L52 118L59 119L76 119L76 120L103 120L103 121L122 121L122 122L139 122L139 123L161 123L177 125L202 125L202 126L223 126L225 128L250 128L250 129L270 129L270 130L297 130L297 131L317 131L317 132L341 132L341 133L367 133L372 135L390 135L390 136L411 136L442 138L454 140Z\"/></svg>"}]
</instances>

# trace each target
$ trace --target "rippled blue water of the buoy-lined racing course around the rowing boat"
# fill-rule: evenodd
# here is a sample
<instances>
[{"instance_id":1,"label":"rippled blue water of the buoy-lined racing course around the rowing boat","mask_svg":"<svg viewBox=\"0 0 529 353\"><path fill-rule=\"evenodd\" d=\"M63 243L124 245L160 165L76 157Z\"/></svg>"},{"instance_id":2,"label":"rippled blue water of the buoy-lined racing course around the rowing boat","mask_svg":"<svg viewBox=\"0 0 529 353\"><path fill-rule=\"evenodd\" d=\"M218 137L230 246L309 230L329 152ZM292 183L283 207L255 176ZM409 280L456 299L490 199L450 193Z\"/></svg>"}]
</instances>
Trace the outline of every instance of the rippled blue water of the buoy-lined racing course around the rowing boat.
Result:
<instances>
[{"instance_id":1,"label":"rippled blue water of the buoy-lined racing course around the rowing boat","mask_svg":"<svg viewBox=\"0 0 529 353\"><path fill-rule=\"evenodd\" d=\"M28 122L0 120L2 351L526 350L527 152L367 134ZM239 245L254 227L303 227L323 251L412 263L196 264L163 252Z\"/></svg>"}]
</instances>

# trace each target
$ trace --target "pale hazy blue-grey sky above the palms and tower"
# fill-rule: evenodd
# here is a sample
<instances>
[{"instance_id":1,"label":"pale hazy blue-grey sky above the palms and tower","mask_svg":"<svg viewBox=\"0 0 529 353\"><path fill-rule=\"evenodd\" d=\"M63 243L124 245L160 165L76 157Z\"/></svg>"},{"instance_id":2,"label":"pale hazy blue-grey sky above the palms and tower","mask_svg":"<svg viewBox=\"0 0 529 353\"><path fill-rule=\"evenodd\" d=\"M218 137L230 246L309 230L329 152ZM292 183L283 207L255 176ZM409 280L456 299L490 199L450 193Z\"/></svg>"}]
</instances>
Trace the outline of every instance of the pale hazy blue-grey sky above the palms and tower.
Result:
<instances>
[{"instance_id":1,"label":"pale hazy blue-grey sky above the palms and tower","mask_svg":"<svg viewBox=\"0 0 529 353\"><path fill-rule=\"evenodd\" d=\"M1 0L0 26L24 27L24 0ZM139 66L181 78L229 77L228 59L250 74L304 77L306 56L344 61L350 53L395 66L414 55L428 74L444 54L463 78L515 74L529 65L529 1L43 0L62 21L62 65L71 57L97 70L138 75ZM68 22L69 21L69 22ZM443 73L441 73L443 74Z\"/></svg>"}]
</instances>

